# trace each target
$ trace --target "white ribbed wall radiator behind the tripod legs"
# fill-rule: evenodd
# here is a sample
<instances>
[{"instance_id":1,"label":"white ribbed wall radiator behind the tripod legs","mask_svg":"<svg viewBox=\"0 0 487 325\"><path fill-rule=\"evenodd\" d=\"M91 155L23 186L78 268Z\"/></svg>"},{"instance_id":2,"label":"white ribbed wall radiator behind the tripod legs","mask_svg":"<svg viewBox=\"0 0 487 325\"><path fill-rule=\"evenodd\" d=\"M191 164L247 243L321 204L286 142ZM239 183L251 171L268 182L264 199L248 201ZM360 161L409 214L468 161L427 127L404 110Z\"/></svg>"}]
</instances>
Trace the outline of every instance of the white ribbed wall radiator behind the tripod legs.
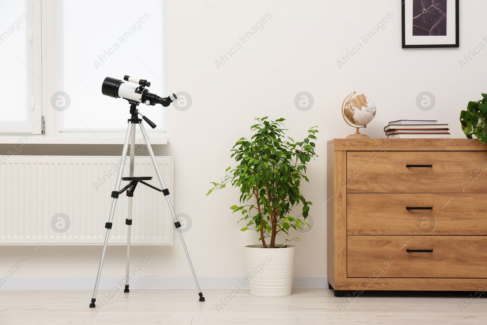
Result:
<instances>
[{"instance_id":1,"label":"white ribbed wall radiator behind the tripod legs","mask_svg":"<svg viewBox=\"0 0 487 325\"><path fill-rule=\"evenodd\" d=\"M0 245L103 244L120 156L10 156L0 160ZM172 191L172 158L156 157ZM129 175L129 157L123 172ZM160 188L150 157L135 157L135 176ZM128 181L122 181L122 186ZM127 243L128 197L117 201L109 244ZM131 243L172 245L173 222L161 192L138 184Z\"/></svg>"}]
</instances>

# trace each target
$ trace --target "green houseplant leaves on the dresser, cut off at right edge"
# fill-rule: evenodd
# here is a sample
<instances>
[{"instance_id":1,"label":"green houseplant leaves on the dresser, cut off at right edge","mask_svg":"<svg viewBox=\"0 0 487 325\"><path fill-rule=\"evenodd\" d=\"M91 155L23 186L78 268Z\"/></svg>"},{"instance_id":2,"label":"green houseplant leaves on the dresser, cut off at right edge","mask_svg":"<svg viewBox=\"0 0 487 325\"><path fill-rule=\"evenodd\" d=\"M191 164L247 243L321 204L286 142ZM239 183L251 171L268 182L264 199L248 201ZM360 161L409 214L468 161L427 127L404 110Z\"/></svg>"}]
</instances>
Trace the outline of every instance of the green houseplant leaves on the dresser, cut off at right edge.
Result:
<instances>
[{"instance_id":1,"label":"green houseplant leaves on the dresser, cut off at right edge","mask_svg":"<svg viewBox=\"0 0 487 325\"><path fill-rule=\"evenodd\" d=\"M480 142L487 143L487 94L482 93L482 97L479 101L468 102L467 111L460 112L460 123L469 139L473 134Z\"/></svg>"}]
</instances>

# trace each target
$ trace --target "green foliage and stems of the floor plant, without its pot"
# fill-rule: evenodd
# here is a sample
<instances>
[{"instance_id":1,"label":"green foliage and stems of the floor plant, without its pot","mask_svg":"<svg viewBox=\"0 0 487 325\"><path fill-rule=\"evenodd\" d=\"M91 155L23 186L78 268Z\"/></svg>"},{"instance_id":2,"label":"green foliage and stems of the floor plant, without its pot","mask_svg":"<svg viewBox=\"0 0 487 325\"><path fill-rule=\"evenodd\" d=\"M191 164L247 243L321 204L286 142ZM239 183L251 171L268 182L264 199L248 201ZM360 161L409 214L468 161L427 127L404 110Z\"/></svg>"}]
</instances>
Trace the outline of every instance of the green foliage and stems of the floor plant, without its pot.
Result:
<instances>
[{"instance_id":1,"label":"green foliage and stems of the floor plant, without its pot","mask_svg":"<svg viewBox=\"0 0 487 325\"><path fill-rule=\"evenodd\" d=\"M253 135L249 140L241 138L232 148L232 155L239 164L234 170L226 169L225 179L221 183L211 182L215 189L225 188L228 182L240 188L240 204L230 207L233 213L242 213L239 220L246 223L242 231L255 228L260 233L259 240L263 247L276 248L276 235L280 232L289 234L289 229L302 229L309 224L289 216L293 206L302 204L304 219L308 216L312 203L300 193L302 179L307 164L317 157L315 153L315 134L317 127L308 130L303 141L295 142L281 129L284 118L267 121L267 116L255 118L258 123L252 125ZM230 171L230 172L228 172ZM270 245L266 245L266 239ZM297 238L293 238L297 239ZM291 239L292 240L292 239Z\"/></svg>"}]
</instances>

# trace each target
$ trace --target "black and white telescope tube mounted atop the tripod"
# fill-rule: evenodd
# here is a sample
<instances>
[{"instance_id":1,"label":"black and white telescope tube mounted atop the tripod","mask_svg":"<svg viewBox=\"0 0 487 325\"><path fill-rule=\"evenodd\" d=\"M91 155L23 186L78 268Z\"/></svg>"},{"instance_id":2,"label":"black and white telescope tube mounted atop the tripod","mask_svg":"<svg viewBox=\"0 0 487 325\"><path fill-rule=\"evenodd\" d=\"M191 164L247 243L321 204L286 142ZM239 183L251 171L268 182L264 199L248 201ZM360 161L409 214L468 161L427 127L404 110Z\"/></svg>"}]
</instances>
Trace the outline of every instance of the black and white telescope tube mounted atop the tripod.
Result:
<instances>
[{"instance_id":1,"label":"black and white telescope tube mounted atop the tripod","mask_svg":"<svg viewBox=\"0 0 487 325\"><path fill-rule=\"evenodd\" d=\"M132 76L124 76L123 82L120 79L107 76L103 80L101 86L101 93L113 98L125 98L129 102L136 101L138 103L144 103L146 105L161 104L164 107L168 107L175 99L175 94L167 97L157 96L156 94L149 93L149 90L145 87L150 87L150 82L146 79L137 79Z\"/></svg>"}]
</instances>

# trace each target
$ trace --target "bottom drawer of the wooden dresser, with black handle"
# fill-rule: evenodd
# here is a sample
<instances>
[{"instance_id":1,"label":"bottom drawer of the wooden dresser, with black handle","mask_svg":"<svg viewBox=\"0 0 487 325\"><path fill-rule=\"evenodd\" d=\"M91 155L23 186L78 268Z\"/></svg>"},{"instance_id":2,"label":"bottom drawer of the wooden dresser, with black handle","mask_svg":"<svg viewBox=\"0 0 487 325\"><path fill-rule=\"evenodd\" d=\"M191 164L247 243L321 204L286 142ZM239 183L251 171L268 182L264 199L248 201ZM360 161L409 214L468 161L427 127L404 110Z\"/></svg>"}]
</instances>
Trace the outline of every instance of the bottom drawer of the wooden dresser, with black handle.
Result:
<instances>
[{"instance_id":1,"label":"bottom drawer of the wooden dresser, with black handle","mask_svg":"<svg viewBox=\"0 0 487 325\"><path fill-rule=\"evenodd\" d=\"M487 236L347 236L347 266L357 278L486 278Z\"/></svg>"}]
</instances>

